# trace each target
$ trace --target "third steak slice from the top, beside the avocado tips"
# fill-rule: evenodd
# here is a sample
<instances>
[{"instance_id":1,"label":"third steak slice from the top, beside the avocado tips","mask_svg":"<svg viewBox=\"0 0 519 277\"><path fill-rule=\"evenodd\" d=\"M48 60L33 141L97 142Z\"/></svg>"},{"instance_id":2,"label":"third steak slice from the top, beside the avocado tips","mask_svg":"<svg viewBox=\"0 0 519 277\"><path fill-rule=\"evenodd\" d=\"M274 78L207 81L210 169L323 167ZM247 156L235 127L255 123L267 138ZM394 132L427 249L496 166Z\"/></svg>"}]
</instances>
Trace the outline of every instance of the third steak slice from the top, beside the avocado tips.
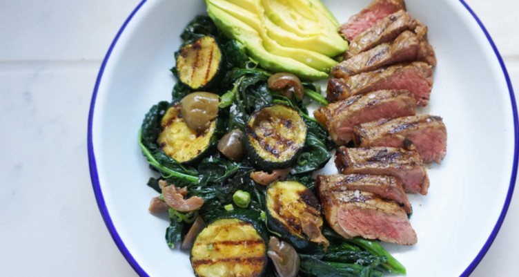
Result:
<instances>
[{"instance_id":1,"label":"third steak slice from the top, beside the avocado tips","mask_svg":"<svg viewBox=\"0 0 519 277\"><path fill-rule=\"evenodd\" d=\"M435 66L435 57L430 57L431 55L434 55L434 52L427 38L411 31L404 31L392 43L379 44L351 59L341 61L333 66L331 75L346 79L352 75L404 61L425 61Z\"/></svg>"}]
</instances>

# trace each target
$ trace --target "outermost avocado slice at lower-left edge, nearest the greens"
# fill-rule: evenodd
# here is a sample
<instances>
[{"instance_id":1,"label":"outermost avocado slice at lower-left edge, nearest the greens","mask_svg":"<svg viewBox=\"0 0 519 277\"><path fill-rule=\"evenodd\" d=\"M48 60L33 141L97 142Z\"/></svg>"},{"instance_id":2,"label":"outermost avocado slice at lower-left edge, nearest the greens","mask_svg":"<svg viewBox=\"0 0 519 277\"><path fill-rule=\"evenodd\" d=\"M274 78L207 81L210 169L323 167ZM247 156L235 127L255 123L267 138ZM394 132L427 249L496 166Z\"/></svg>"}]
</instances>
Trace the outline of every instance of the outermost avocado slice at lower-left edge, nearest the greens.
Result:
<instances>
[{"instance_id":1,"label":"outermost avocado slice at lower-left edge, nearest the greens","mask_svg":"<svg viewBox=\"0 0 519 277\"><path fill-rule=\"evenodd\" d=\"M268 52L263 44L259 33L243 23L241 20L229 15L227 12L213 5L213 1L206 0L207 13L215 22L216 26L228 37L237 39L243 44L253 59L269 70L275 72L288 71L303 79L324 79L328 74L306 66L306 64L291 59L290 57L282 57Z\"/></svg>"}]
</instances>

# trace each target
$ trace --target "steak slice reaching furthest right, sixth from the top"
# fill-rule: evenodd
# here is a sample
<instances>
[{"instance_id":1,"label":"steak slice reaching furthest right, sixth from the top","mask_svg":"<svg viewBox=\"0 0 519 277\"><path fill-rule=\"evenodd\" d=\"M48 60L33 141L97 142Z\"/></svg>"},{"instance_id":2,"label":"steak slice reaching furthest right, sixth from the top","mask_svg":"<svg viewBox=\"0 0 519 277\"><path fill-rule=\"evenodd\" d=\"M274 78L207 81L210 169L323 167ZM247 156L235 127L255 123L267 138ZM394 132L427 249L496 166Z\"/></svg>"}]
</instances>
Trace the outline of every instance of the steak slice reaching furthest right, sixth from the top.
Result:
<instances>
[{"instance_id":1,"label":"steak slice reaching furthest right, sixth from the top","mask_svg":"<svg viewBox=\"0 0 519 277\"><path fill-rule=\"evenodd\" d=\"M358 146L415 148L424 162L442 162L447 153L447 128L442 117L415 115L359 124L354 128Z\"/></svg>"}]
</instances>

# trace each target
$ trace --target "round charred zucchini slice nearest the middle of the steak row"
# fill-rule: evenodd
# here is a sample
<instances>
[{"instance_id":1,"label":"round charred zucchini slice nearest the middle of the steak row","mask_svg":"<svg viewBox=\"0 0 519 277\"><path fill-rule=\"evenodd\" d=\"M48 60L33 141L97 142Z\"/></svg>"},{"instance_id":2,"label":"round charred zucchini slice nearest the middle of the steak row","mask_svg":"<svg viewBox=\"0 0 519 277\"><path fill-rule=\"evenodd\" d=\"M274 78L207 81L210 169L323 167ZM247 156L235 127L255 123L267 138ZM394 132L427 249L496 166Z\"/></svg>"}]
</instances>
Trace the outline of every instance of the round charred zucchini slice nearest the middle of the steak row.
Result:
<instances>
[{"instance_id":1,"label":"round charred zucchini slice nearest the middle of the steak row","mask_svg":"<svg viewBox=\"0 0 519 277\"><path fill-rule=\"evenodd\" d=\"M291 166L306 141L306 124L295 109L273 104L251 115L245 133L248 160L271 171Z\"/></svg>"}]
</instances>

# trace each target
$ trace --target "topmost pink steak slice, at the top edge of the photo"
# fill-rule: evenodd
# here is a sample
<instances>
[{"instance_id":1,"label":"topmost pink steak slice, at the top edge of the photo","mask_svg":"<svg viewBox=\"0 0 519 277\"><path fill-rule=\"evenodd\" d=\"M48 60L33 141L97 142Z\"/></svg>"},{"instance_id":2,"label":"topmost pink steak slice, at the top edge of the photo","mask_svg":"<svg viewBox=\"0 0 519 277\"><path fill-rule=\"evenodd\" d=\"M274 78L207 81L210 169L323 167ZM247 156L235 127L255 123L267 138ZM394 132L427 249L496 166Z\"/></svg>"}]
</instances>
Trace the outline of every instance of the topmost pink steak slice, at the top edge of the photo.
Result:
<instances>
[{"instance_id":1,"label":"topmost pink steak slice, at the top edge of the photo","mask_svg":"<svg viewBox=\"0 0 519 277\"><path fill-rule=\"evenodd\" d=\"M373 26L380 19L391 15L398 10L405 10L404 0L374 0L367 8L353 15L340 26L340 33L349 41L361 32Z\"/></svg>"}]
</instances>

